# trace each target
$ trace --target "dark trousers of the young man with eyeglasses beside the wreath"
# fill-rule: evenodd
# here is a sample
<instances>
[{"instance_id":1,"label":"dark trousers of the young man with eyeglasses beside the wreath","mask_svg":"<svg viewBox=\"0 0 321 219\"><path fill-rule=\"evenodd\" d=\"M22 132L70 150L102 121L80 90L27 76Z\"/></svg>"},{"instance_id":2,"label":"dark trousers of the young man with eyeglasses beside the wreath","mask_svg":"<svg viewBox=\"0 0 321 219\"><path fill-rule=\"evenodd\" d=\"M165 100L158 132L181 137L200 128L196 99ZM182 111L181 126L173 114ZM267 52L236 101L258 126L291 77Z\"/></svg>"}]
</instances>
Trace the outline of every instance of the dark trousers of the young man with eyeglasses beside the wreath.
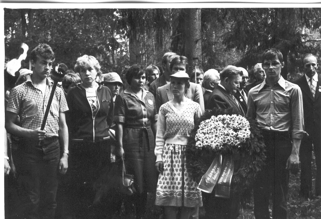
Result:
<instances>
[{"instance_id":1,"label":"dark trousers of the young man with eyeglasses beside the wreath","mask_svg":"<svg viewBox=\"0 0 321 219\"><path fill-rule=\"evenodd\" d=\"M253 186L256 219L270 219L269 199L272 194L273 219L286 219L289 170L286 162L292 150L288 132L263 131L266 166L258 173Z\"/></svg>"}]
</instances>

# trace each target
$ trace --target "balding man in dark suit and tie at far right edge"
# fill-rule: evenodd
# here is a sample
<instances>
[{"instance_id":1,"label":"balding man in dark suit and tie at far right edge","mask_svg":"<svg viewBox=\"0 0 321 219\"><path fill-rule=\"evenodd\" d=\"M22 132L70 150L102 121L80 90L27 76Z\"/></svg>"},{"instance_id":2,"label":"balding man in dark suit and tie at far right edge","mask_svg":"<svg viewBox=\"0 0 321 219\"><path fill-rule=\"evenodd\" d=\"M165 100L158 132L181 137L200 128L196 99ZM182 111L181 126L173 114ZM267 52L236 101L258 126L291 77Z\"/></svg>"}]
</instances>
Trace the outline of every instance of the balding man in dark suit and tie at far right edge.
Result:
<instances>
[{"instance_id":1,"label":"balding man in dark suit and tie at far right edge","mask_svg":"<svg viewBox=\"0 0 321 219\"><path fill-rule=\"evenodd\" d=\"M293 83L299 85L302 91L304 128L309 135L304 136L299 150L301 162L300 195L310 198L312 195L312 144L317 166L315 195L321 195L321 76L317 74L318 63L314 55L306 54L303 56L303 67L305 74Z\"/></svg>"}]
</instances>

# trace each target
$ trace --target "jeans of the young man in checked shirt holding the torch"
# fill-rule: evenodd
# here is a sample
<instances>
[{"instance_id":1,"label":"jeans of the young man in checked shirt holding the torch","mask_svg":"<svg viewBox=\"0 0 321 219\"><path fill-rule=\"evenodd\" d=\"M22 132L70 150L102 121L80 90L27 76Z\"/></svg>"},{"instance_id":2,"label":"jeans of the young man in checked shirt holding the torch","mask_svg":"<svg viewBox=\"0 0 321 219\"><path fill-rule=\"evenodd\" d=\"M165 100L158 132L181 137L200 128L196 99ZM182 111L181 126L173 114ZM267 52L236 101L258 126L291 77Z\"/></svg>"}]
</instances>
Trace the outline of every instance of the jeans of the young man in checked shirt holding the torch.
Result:
<instances>
[{"instance_id":1,"label":"jeans of the young man in checked shirt holding the torch","mask_svg":"<svg viewBox=\"0 0 321 219\"><path fill-rule=\"evenodd\" d=\"M58 137L38 142L24 141L19 146L21 166L20 200L13 218L54 218L56 209L57 173L60 160Z\"/></svg>"}]
</instances>

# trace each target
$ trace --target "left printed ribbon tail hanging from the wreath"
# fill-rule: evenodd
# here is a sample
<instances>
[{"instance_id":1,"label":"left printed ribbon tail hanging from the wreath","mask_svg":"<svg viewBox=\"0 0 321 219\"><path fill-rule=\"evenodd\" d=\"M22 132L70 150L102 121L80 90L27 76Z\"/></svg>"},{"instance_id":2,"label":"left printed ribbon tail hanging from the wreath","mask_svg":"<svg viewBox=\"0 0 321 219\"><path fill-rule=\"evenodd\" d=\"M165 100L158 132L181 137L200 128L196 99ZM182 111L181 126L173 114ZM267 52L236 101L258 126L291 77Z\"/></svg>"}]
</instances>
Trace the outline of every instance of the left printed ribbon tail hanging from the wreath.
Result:
<instances>
[{"instance_id":1,"label":"left printed ribbon tail hanging from the wreath","mask_svg":"<svg viewBox=\"0 0 321 219\"><path fill-rule=\"evenodd\" d=\"M200 183L197 186L197 189L211 193L214 186L216 185L217 180L219 179L222 169L222 155L218 154L215 156L210 168L202 176Z\"/></svg>"}]
</instances>

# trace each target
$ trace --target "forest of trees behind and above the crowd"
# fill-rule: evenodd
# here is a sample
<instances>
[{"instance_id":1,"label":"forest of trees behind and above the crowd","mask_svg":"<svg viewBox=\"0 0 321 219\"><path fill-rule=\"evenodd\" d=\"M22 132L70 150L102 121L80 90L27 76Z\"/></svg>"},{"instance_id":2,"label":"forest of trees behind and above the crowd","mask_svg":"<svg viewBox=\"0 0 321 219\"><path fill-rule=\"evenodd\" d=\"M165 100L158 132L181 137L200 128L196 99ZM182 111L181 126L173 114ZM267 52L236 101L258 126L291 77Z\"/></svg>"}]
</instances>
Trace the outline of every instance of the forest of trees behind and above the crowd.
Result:
<instances>
[{"instance_id":1,"label":"forest of trees behind and above the crowd","mask_svg":"<svg viewBox=\"0 0 321 219\"><path fill-rule=\"evenodd\" d=\"M191 67L198 57L206 71L229 64L250 69L274 47L284 57L282 76L291 81L302 72L303 54L321 61L320 14L320 8L4 8L5 58L19 57L22 42L28 54L47 43L56 62L70 69L88 54L103 73L120 74L132 64L160 66L163 54L173 51L187 56Z\"/></svg>"}]
</instances>

